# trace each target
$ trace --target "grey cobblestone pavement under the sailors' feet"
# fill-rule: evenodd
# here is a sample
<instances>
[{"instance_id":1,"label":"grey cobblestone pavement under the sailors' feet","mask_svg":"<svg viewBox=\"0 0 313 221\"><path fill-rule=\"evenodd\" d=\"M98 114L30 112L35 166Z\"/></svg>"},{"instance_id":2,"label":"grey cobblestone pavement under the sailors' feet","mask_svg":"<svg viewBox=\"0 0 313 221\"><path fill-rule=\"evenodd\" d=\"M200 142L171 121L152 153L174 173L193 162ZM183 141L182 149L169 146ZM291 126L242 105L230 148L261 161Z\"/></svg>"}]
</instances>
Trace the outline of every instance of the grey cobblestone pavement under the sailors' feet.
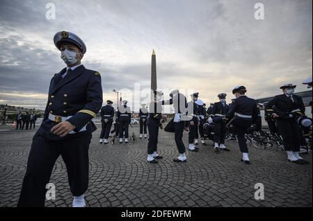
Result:
<instances>
[{"instance_id":1,"label":"grey cobblestone pavement under the sailors' feet","mask_svg":"<svg viewBox=\"0 0 313 221\"><path fill-rule=\"evenodd\" d=\"M98 125L99 128L99 125ZM130 128L138 134L138 126ZM34 130L15 131L0 126L0 206L16 206ZM188 134L184 133L184 143ZM309 165L286 160L275 148L250 147L251 165L239 161L235 141L231 152L216 154L211 141L200 152L177 157L173 134L161 131L159 164L146 161L147 139L136 143L99 144L99 130L90 145L90 186L87 206L312 206L312 155ZM46 206L71 206L65 164L58 159L51 176L56 200ZM255 200L255 184L264 184L264 200Z\"/></svg>"}]
</instances>

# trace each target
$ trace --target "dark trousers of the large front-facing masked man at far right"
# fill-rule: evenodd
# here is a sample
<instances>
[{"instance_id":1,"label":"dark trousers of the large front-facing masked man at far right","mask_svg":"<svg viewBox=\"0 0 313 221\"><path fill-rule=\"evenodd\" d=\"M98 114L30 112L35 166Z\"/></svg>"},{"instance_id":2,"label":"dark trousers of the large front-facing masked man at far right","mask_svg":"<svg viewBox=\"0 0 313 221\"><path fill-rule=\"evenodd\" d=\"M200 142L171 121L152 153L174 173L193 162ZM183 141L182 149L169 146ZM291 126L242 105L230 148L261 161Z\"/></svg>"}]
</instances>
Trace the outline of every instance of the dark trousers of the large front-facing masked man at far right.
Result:
<instances>
[{"instance_id":1,"label":"dark trousers of the large front-facing masked man at far right","mask_svg":"<svg viewBox=\"0 0 313 221\"><path fill-rule=\"evenodd\" d=\"M284 150L300 151L299 126L295 118L278 118L276 125L284 143Z\"/></svg>"}]
</instances>

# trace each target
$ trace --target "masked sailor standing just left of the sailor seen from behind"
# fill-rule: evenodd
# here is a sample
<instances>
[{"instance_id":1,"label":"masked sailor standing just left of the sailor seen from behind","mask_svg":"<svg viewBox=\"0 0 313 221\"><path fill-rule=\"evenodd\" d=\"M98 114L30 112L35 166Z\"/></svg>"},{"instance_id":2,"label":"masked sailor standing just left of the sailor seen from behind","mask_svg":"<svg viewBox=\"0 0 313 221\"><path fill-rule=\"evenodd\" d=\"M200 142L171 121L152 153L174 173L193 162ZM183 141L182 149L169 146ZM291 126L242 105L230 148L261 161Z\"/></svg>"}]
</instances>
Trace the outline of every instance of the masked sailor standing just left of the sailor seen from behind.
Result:
<instances>
[{"instance_id":1,"label":"masked sailor standing just left of the sailor seen from behind","mask_svg":"<svg viewBox=\"0 0 313 221\"><path fill-rule=\"evenodd\" d=\"M212 116L209 117L210 122L214 122L212 118L221 118L227 114L229 106L226 104L226 93L218 94L219 102L214 103L212 110ZM219 152L219 150L230 151L225 146L225 135L226 127L223 121L214 122L214 150Z\"/></svg>"}]
</instances>

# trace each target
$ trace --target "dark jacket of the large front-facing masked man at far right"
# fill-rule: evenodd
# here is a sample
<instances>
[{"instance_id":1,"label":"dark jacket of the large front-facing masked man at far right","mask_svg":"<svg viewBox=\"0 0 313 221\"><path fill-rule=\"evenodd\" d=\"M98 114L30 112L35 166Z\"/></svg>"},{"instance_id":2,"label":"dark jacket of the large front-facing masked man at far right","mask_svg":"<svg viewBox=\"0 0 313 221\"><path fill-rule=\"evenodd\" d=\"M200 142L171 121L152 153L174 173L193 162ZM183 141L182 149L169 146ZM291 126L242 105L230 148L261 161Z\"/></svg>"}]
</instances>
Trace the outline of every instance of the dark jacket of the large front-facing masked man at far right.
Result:
<instances>
[{"instance_id":1,"label":"dark jacket of the large front-facing masked man at far right","mask_svg":"<svg viewBox=\"0 0 313 221\"><path fill-rule=\"evenodd\" d=\"M298 112L305 114L305 105L303 104L303 100L298 95L292 95L294 98L294 102L286 96L286 94L280 94L275 96L272 100L270 100L266 104L267 112L275 112L280 118L292 118L294 117L294 110L298 109ZM291 116L291 115L292 116Z\"/></svg>"}]
</instances>

